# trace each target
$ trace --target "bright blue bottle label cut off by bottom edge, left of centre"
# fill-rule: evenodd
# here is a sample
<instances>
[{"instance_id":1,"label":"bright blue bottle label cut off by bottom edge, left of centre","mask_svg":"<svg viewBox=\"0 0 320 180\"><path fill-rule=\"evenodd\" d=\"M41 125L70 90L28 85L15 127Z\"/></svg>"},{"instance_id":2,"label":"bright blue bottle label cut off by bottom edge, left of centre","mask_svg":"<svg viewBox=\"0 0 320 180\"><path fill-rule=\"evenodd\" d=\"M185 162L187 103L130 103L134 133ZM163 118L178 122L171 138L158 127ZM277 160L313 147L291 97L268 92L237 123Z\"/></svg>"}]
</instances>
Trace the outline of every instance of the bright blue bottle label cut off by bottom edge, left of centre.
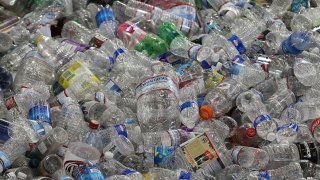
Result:
<instances>
[{"instance_id":1,"label":"bright blue bottle label cut off by bottom edge, left of centre","mask_svg":"<svg viewBox=\"0 0 320 180\"><path fill-rule=\"evenodd\" d=\"M95 166L81 165L72 174L77 180L104 180L101 171Z\"/></svg>"}]
</instances>

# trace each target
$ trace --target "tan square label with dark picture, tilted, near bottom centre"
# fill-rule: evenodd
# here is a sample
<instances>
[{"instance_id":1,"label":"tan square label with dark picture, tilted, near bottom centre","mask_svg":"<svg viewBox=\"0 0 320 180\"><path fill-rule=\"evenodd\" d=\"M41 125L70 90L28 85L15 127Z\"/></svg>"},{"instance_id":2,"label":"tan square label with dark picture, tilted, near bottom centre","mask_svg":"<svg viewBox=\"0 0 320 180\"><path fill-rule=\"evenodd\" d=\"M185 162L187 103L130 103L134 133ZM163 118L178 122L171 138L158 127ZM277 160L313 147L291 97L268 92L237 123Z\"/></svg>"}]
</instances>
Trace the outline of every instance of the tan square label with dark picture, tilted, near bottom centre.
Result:
<instances>
[{"instance_id":1,"label":"tan square label with dark picture, tilted, near bottom centre","mask_svg":"<svg viewBox=\"0 0 320 180\"><path fill-rule=\"evenodd\" d=\"M215 166L216 171L225 168L225 164L219 157L213 142L210 136L204 133L180 145L194 171L204 168L212 162L217 165Z\"/></svg>"}]
</instances>

